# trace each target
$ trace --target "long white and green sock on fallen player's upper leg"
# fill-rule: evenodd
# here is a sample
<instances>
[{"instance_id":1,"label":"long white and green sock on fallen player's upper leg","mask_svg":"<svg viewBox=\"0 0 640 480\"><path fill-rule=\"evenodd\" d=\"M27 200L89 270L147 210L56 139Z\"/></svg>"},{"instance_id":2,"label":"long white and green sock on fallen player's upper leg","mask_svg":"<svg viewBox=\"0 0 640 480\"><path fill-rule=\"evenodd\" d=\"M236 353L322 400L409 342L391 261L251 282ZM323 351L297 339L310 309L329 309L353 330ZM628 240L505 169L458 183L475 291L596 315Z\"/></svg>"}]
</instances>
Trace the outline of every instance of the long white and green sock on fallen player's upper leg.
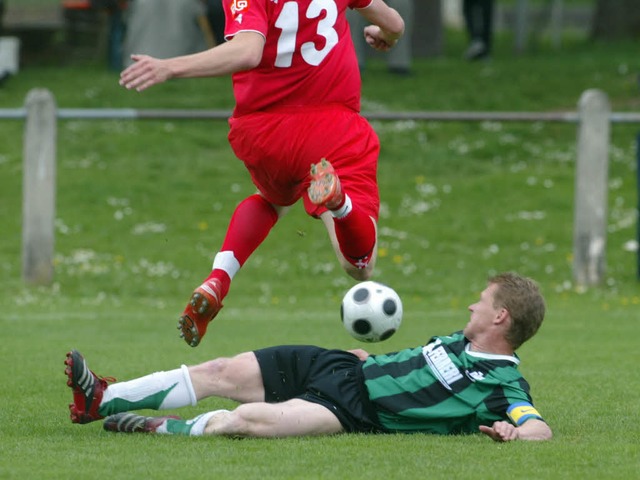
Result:
<instances>
[{"instance_id":1,"label":"long white and green sock on fallen player's upper leg","mask_svg":"<svg viewBox=\"0 0 640 480\"><path fill-rule=\"evenodd\" d=\"M151 408L166 410L194 406L197 403L186 365L168 372L156 372L128 382L109 385L100 412L110 415L129 410Z\"/></svg>"}]
</instances>

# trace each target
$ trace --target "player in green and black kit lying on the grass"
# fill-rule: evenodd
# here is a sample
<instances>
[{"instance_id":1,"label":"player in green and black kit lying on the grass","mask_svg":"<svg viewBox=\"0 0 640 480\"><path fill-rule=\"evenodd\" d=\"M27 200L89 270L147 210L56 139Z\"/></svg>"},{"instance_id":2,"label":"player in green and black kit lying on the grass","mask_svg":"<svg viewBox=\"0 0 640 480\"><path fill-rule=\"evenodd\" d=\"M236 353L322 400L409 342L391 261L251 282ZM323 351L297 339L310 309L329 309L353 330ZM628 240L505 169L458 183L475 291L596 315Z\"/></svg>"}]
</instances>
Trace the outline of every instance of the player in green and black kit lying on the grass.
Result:
<instances>
[{"instance_id":1,"label":"player in green and black kit lying on the grass","mask_svg":"<svg viewBox=\"0 0 640 480\"><path fill-rule=\"evenodd\" d=\"M65 360L71 420L107 417L109 431L193 436L482 432L496 441L550 439L515 353L544 318L537 284L515 273L496 275L469 311L462 331L386 355L289 345L111 385L73 350ZM211 396L241 405L186 421L129 413Z\"/></svg>"}]
</instances>

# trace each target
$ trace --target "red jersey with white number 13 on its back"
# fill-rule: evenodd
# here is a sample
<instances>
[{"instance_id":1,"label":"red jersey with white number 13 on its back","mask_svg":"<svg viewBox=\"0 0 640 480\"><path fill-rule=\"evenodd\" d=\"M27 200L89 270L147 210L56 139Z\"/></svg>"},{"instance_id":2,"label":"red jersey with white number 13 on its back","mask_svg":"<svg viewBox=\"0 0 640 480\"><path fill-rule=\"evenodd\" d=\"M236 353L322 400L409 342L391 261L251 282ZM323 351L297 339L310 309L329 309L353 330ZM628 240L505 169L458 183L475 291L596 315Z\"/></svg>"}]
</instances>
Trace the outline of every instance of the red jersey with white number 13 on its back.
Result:
<instances>
[{"instance_id":1,"label":"red jersey with white number 13 on its back","mask_svg":"<svg viewBox=\"0 0 640 480\"><path fill-rule=\"evenodd\" d=\"M341 104L360 111L360 71L347 8L371 0L223 0L225 37L258 32L260 64L234 73L234 116L274 107Z\"/></svg>"}]
</instances>

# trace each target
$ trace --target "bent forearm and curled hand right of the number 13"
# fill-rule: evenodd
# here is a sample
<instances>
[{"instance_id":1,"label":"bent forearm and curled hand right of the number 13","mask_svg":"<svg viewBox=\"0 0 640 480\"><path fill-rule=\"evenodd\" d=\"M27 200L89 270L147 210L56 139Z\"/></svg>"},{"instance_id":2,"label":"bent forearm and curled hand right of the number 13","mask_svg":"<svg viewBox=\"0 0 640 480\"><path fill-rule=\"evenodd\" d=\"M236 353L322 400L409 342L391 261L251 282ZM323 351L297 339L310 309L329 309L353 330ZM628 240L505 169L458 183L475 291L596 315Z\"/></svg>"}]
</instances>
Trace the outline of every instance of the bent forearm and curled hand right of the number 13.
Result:
<instances>
[{"instance_id":1,"label":"bent forearm and curled hand right of the number 13","mask_svg":"<svg viewBox=\"0 0 640 480\"><path fill-rule=\"evenodd\" d=\"M404 20L383 0L373 0L357 11L371 23L364 29L364 38L376 50L389 50L404 34Z\"/></svg>"}]
</instances>

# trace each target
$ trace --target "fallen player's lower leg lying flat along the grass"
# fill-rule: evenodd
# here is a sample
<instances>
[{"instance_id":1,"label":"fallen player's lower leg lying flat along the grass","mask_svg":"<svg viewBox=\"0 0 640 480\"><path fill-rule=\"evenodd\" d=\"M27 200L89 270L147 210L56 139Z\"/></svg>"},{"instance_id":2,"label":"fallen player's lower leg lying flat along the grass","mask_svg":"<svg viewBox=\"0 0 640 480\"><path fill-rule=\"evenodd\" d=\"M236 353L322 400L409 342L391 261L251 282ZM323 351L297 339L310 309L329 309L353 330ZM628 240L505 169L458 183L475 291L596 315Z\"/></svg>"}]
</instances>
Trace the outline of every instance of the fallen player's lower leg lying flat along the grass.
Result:
<instances>
[{"instance_id":1,"label":"fallen player's lower leg lying flat along the grass","mask_svg":"<svg viewBox=\"0 0 640 480\"><path fill-rule=\"evenodd\" d=\"M123 433L232 437L331 435L344 431L338 418L328 408L297 398L275 404L246 403L233 411L216 410L191 420L118 414L108 417L104 428Z\"/></svg>"}]
</instances>

